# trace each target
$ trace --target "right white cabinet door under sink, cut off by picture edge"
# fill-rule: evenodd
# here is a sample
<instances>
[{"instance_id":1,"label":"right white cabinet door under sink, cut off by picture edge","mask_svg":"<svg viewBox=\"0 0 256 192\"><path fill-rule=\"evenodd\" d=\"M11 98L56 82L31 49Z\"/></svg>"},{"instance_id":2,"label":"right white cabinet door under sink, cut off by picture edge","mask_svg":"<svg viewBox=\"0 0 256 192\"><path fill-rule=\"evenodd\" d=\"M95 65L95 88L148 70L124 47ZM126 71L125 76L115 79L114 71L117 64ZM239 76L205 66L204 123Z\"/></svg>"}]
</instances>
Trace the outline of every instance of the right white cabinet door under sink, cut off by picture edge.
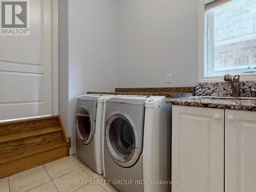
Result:
<instances>
[{"instance_id":1,"label":"right white cabinet door under sink, cut off by picture edge","mask_svg":"<svg viewBox=\"0 0 256 192\"><path fill-rule=\"evenodd\" d=\"M256 112L225 111L225 191L256 191Z\"/></svg>"}]
</instances>

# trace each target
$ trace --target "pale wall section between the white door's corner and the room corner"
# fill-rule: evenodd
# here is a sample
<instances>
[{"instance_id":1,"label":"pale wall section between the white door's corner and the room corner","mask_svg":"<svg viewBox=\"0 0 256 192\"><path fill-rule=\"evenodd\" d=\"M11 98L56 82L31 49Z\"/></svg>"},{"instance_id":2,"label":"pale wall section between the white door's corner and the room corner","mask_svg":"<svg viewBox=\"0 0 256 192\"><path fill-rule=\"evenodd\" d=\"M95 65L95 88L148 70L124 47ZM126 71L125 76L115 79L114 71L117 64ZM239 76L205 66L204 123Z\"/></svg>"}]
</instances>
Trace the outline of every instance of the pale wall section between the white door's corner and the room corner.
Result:
<instances>
[{"instance_id":1,"label":"pale wall section between the white door's corner and the room corner","mask_svg":"<svg viewBox=\"0 0 256 192\"><path fill-rule=\"evenodd\" d=\"M116 8L116 0L69 1L68 134L72 146L76 97L116 87Z\"/></svg>"}]
</instances>

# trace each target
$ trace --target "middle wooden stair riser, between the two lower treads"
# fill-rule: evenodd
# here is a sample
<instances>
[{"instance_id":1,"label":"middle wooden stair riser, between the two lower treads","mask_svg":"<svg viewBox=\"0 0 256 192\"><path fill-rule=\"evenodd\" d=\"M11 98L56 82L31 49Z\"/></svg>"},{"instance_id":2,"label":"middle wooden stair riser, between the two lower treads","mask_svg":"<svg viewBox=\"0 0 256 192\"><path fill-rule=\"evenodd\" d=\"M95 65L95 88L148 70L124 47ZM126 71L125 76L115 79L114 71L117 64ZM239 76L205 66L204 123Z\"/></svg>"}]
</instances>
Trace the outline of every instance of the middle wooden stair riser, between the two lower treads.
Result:
<instances>
[{"instance_id":1,"label":"middle wooden stair riser, between the two lower treads","mask_svg":"<svg viewBox=\"0 0 256 192\"><path fill-rule=\"evenodd\" d=\"M7 153L12 152L15 154L16 151L20 149L30 150L33 146L40 146L42 144L54 145L55 141L62 140L62 132L55 132L51 134L45 134L35 137L29 137L25 139L19 139L14 141L9 141L6 143L1 143L0 147L0 159L8 158ZM12 155L13 156L13 155Z\"/></svg>"}]
</instances>

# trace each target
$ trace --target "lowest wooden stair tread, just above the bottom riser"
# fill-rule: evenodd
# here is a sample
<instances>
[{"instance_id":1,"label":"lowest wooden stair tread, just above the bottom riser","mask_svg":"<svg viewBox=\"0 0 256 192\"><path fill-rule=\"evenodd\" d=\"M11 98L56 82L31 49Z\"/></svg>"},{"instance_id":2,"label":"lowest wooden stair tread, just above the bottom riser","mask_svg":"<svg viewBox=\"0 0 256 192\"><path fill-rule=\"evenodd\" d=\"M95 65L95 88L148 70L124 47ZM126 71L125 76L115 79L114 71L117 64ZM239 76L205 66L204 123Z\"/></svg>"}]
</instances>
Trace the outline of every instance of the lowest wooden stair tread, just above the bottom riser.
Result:
<instances>
[{"instance_id":1,"label":"lowest wooden stair tread, just above the bottom riser","mask_svg":"<svg viewBox=\"0 0 256 192\"><path fill-rule=\"evenodd\" d=\"M5 155L1 157L0 165L19 159L24 159L26 157L30 157L33 155L41 154L44 152L52 151L60 147L67 147L67 143L62 140L57 140L52 143L33 146L29 148L29 150L27 148L24 148L19 151L9 151L8 153L5 153Z\"/></svg>"}]
</instances>

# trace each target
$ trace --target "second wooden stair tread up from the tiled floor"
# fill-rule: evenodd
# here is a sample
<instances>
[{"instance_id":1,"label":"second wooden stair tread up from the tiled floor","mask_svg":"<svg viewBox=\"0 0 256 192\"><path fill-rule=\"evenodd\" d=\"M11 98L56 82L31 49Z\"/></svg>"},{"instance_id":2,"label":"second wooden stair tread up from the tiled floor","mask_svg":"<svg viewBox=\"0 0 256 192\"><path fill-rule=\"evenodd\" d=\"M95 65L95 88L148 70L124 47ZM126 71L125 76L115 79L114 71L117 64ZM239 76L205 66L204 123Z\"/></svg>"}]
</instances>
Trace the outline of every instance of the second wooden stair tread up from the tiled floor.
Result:
<instances>
[{"instance_id":1,"label":"second wooden stair tread up from the tiled floor","mask_svg":"<svg viewBox=\"0 0 256 192\"><path fill-rule=\"evenodd\" d=\"M45 134L50 134L50 133L55 133L55 132L61 132L61 131L62 131L62 129L59 126L27 130L25 132L12 133L9 135L0 136L0 143L14 141L14 140L18 140L18 139L25 139L28 137L35 137L35 136L45 135Z\"/></svg>"}]
</instances>

